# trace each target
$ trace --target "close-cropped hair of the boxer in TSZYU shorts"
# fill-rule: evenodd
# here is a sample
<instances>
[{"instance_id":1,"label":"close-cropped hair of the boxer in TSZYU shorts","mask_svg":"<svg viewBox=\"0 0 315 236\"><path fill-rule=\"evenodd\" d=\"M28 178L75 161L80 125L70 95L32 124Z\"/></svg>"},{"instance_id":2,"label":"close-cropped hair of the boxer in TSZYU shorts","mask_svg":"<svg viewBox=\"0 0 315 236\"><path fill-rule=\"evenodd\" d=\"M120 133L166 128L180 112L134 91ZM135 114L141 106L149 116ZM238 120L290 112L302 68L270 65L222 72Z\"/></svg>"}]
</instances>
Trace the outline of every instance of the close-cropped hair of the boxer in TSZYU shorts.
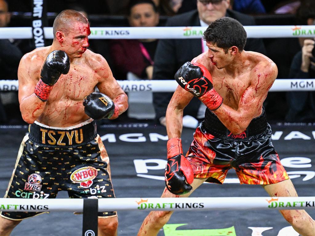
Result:
<instances>
[{"instance_id":1,"label":"close-cropped hair of the boxer in TSZYU shorts","mask_svg":"<svg viewBox=\"0 0 315 236\"><path fill-rule=\"evenodd\" d=\"M83 24L89 23L88 19L83 14L75 10L67 9L60 12L54 20L54 38L56 37L57 31L62 31L63 29L67 28L67 26L71 27L74 22L81 22Z\"/></svg>"}]
</instances>

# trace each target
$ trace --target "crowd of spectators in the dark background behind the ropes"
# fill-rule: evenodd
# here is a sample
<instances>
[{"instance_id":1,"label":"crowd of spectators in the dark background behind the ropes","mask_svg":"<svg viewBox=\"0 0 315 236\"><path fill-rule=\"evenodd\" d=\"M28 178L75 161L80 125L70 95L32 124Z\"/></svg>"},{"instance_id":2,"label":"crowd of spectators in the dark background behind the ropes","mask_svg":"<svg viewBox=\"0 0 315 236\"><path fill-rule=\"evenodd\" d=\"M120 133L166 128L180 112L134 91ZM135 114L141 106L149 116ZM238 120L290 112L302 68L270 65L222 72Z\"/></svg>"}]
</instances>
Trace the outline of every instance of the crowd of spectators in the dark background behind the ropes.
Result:
<instances>
[{"instance_id":1,"label":"crowd of spectators in the dark background behind the ropes","mask_svg":"<svg viewBox=\"0 0 315 236\"><path fill-rule=\"evenodd\" d=\"M81 12L91 27L207 26L223 16L243 25L315 25L314 5L312 0L55 0L47 1L47 12L48 26L64 9ZM31 1L0 0L0 27L31 26L31 11ZM278 66L277 79L315 78L314 37L248 39L245 50L271 58ZM90 50L105 57L117 80L172 80L183 63L207 50L201 39L94 39L89 43ZM0 79L16 80L21 57L33 49L31 40L0 39ZM152 99L155 112L148 118L164 124L171 96L145 97ZM264 106L271 122L315 122L314 92L272 92ZM204 109L196 99L184 115L202 119ZM0 124L24 123L17 92L0 93L0 114ZM126 113L118 122L132 119Z\"/></svg>"}]
</instances>

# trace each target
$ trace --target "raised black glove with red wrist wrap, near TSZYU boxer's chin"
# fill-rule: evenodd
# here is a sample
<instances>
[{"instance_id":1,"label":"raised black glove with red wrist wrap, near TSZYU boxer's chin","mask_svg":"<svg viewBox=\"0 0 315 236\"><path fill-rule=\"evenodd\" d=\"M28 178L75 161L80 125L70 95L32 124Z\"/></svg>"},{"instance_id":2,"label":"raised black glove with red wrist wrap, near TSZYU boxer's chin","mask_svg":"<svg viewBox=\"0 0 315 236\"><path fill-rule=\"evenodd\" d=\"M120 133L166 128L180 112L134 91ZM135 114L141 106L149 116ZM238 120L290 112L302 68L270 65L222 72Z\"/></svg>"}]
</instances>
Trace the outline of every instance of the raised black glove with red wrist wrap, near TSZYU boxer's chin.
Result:
<instances>
[{"instance_id":1,"label":"raised black glove with red wrist wrap, near TSZYU boxer's chin","mask_svg":"<svg viewBox=\"0 0 315 236\"><path fill-rule=\"evenodd\" d=\"M42 101L47 101L54 84L61 74L66 75L70 70L70 60L62 50L55 50L48 54L42 71L40 80L35 86L34 93Z\"/></svg>"}]
</instances>

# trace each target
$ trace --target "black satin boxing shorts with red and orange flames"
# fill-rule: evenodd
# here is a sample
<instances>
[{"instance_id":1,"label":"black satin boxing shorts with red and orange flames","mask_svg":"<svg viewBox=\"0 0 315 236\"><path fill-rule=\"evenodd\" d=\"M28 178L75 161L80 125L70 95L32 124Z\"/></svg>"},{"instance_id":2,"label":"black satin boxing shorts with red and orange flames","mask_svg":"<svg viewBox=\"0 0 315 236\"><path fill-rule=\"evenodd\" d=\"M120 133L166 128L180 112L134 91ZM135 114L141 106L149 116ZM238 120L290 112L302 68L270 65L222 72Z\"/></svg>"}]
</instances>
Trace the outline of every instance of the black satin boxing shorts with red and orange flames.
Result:
<instances>
[{"instance_id":1,"label":"black satin boxing shorts with red and orange flames","mask_svg":"<svg viewBox=\"0 0 315 236\"><path fill-rule=\"evenodd\" d=\"M206 110L186 154L195 178L224 182L235 169L241 184L272 184L289 179L271 142L271 127L265 111L254 118L246 131L233 135L215 114Z\"/></svg>"}]
</instances>

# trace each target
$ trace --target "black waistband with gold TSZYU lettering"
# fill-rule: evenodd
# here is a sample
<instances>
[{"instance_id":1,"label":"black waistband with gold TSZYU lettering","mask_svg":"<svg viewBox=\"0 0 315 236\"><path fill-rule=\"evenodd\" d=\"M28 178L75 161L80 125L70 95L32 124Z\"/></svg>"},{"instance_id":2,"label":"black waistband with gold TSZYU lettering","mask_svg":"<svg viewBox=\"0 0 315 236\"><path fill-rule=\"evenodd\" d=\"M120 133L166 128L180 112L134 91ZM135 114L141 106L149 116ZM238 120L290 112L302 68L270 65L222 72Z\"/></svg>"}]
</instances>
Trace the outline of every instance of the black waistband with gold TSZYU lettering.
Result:
<instances>
[{"instance_id":1,"label":"black waistband with gold TSZYU lettering","mask_svg":"<svg viewBox=\"0 0 315 236\"><path fill-rule=\"evenodd\" d=\"M96 136L96 122L73 129L53 129L33 123L29 127L32 141L45 145L71 146L92 141Z\"/></svg>"}]
</instances>

